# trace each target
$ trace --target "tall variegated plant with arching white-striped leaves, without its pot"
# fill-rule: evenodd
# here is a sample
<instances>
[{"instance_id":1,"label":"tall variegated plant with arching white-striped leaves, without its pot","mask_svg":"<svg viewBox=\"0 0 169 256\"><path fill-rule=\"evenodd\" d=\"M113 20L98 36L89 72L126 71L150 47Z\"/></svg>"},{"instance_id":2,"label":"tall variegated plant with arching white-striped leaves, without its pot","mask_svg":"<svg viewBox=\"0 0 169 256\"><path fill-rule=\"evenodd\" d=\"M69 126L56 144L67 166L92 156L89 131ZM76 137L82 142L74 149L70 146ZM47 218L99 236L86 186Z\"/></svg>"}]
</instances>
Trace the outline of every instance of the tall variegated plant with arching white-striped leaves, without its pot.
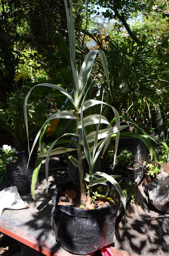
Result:
<instances>
[{"instance_id":1,"label":"tall variegated plant with arching white-striped leaves, without its pot","mask_svg":"<svg viewBox=\"0 0 169 256\"><path fill-rule=\"evenodd\" d=\"M76 130L73 133L66 133L62 135L59 139L55 140L52 144L45 146L38 158L35 165L35 170L33 173L32 178L32 187L31 192L32 196L35 199L35 185L38 177L38 172L40 169L41 161L44 157L46 157L46 165L45 165L45 172L46 172L46 183L48 179L48 163L49 158L52 155L58 155L63 153L68 153L70 151L77 151L78 159L74 157L69 157L70 161L74 163L75 166L79 169L79 181L80 181L80 193L81 193L81 200L84 200L86 194L89 196L91 187L96 184L106 184L107 181L112 183L115 188L117 189L120 198L122 199L123 205L125 207L125 198L120 188L119 184L115 181L113 176L109 176L102 172L95 172L93 173L93 167L96 162L96 159L102 154L105 153L106 148L109 145L111 136L116 134L115 140L115 153L114 153L114 162L117 152L118 140L119 140L119 131L126 128L128 125L120 125L120 119L117 111L113 108L113 106L109 105L115 115L115 124L112 126L108 119L102 115L103 106L108 105L106 102L103 102L103 95L102 100L94 100L94 99L87 99L87 92L89 87L87 87L87 82L89 79L89 75L92 70L92 66L96 57L100 57L103 65L103 69L105 72L105 77L107 80L107 84L109 86L109 76L108 76L108 69L106 63L106 57L104 52L101 50L91 50L85 57L83 65L81 67L80 72L78 73L77 65L76 65L76 48L75 48L75 29L74 29L74 22L73 22L73 7L72 2L70 1L70 14L67 7L67 1L64 0L65 3L65 10L66 10L66 17L67 17L67 24L68 24L68 32L69 32L69 45L70 45L70 61L71 61L71 70L73 73L73 85L74 85L74 93L73 95L69 94L66 90L62 87L59 87L55 84L50 83L42 83L34 86L27 94L25 98L25 106L24 106L24 114L25 114L25 122L26 122L26 129L28 133L28 119L27 119L27 101L30 96L30 93L35 87L44 86L44 87L51 87L53 89L58 90L59 92L63 93L71 102L73 106L73 111L69 110L60 110L56 113L52 114L46 122L41 127L40 131L38 132L33 147L35 146L37 140L39 139L40 134L44 130L45 124L55 118L65 118L65 119L73 119L76 123ZM111 96L111 91L110 96ZM91 108L92 106L100 106L100 112L96 115L86 115L86 110ZM84 117L85 113L85 117ZM104 124L104 129L103 129ZM89 134L86 133L86 127L92 126L95 127L95 130L90 132ZM66 140L63 137L66 136ZM67 140L67 137L70 136L76 137L76 142L73 140ZM61 139L62 138L62 139ZM60 140L61 139L61 140ZM61 147L59 144L67 145L67 143L76 143L77 148L70 148L70 147ZM56 147L56 145L58 145ZM55 146L55 148L54 148ZM33 148L32 148L33 151ZM30 156L31 153L30 152ZM83 168L83 159L86 158L88 162L88 174L84 175L84 168ZM87 191L86 191L86 184L87 184Z\"/></svg>"}]
</instances>

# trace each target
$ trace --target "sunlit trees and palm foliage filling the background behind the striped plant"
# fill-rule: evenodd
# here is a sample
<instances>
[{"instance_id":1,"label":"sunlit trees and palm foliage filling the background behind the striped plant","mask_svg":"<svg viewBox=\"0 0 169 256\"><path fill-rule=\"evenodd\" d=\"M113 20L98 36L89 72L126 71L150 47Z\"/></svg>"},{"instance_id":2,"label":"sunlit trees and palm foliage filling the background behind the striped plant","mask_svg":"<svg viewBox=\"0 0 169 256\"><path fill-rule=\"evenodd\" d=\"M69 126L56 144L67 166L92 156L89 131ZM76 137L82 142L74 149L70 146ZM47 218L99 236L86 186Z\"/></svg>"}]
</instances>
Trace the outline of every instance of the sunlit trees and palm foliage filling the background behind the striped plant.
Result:
<instances>
[{"instance_id":1,"label":"sunlit trees and palm foliage filling the background behind the striped plant","mask_svg":"<svg viewBox=\"0 0 169 256\"><path fill-rule=\"evenodd\" d=\"M64 3L2 0L0 19L0 132L12 135L16 147L22 148L27 140L22 109L29 89L41 82L60 85L68 92L73 88ZM108 62L113 106L119 115L132 118L149 135L165 141L167 1L76 0L74 19L79 67L91 48L102 49ZM89 83L93 97L104 88L100 60ZM109 102L108 93L105 100ZM36 88L28 104L32 137L51 109L60 109L65 101L66 97L53 89ZM64 125L58 125L53 136Z\"/></svg>"}]
</instances>

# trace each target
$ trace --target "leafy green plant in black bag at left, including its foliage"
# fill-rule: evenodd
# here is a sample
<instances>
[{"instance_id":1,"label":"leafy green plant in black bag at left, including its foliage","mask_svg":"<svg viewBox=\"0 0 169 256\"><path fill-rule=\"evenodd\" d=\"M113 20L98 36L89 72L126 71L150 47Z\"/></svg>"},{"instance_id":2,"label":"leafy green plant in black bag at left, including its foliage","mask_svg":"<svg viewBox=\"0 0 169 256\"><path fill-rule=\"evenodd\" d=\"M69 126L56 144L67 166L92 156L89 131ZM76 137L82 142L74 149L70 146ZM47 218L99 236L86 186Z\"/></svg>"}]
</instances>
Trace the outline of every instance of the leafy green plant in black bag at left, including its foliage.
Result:
<instances>
[{"instance_id":1,"label":"leafy green plant in black bag at left, including its foliage","mask_svg":"<svg viewBox=\"0 0 169 256\"><path fill-rule=\"evenodd\" d=\"M18 81L19 82L19 81ZM17 82L16 82L17 84ZM37 158L37 146L34 148L34 159L29 164L27 169L29 153L27 142L27 131L24 122L23 104L25 96L28 92L29 84L22 84L21 88L17 88L17 91L13 91L8 95L8 106L0 105L0 131L6 131L10 135L8 143L14 146L17 150L17 161L8 164L5 167L7 183L10 186L16 185L20 195L30 193L32 174ZM36 103L35 103L36 102ZM41 115L44 120L49 114L47 106L49 102L47 100L40 100L38 103L34 98L30 98L29 102L29 123L30 123L30 145L34 139L34 134L40 129L41 124L39 122L39 116ZM41 111L44 113L41 114ZM35 114L34 114L35 113ZM41 120L43 122L43 120ZM7 142L5 143L7 144ZM1 145L2 146L2 145ZM27 170L27 172L26 172Z\"/></svg>"}]
</instances>

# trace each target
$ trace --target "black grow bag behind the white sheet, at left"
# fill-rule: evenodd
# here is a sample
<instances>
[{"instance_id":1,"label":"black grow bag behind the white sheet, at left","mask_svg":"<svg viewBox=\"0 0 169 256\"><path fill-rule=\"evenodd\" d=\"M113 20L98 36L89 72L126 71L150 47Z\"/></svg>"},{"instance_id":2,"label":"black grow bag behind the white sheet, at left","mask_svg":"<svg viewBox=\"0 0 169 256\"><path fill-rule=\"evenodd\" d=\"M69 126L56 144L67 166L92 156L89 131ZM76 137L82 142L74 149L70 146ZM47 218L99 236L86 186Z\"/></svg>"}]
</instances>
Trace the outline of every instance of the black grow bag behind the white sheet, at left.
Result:
<instances>
[{"instance_id":1,"label":"black grow bag behind the white sheet, at left","mask_svg":"<svg viewBox=\"0 0 169 256\"><path fill-rule=\"evenodd\" d=\"M16 154L18 156L17 161L6 167L6 179L8 186L16 186L19 194L22 196L31 191L32 174L36 158L31 158L27 168L29 159L28 151L19 151Z\"/></svg>"}]
</instances>

